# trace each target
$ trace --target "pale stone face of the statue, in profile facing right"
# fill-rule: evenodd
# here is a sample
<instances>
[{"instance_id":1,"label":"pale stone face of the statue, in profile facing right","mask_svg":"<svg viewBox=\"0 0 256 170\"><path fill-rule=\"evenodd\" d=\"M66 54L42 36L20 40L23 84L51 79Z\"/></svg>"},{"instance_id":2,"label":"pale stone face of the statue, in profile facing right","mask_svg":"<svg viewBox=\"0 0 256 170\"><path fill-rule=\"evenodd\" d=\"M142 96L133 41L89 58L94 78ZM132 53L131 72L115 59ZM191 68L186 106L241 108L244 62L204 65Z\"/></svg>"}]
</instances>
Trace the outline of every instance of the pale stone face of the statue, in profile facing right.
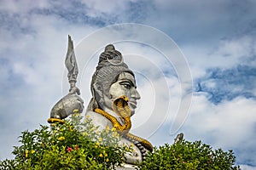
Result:
<instances>
[{"instance_id":1,"label":"pale stone face of the statue, in profile facing right","mask_svg":"<svg viewBox=\"0 0 256 170\"><path fill-rule=\"evenodd\" d=\"M131 116L137 108L137 99L141 96L137 92L137 86L134 77L131 73L123 72L119 75L117 82L114 82L109 88L109 95L104 95L104 106L112 110L113 100L121 96L128 97L128 105L131 109ZM108 97L110 96L110 98Z\"/></svg>"}]
</instances>

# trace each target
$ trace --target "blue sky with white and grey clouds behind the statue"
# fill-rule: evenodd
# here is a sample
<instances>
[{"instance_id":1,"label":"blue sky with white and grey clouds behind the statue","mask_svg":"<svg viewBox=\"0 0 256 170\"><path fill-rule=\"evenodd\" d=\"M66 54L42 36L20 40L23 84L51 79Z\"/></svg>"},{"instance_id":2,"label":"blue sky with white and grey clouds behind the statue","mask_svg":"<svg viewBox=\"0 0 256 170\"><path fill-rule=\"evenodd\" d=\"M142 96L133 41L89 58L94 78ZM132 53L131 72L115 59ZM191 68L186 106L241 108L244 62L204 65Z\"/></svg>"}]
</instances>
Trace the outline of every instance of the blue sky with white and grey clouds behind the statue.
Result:
<instances>
[{"instance_id":1,"label":"blue sky with white and grey clouds behind the statue","mask_svg":"<svg viewBox=\"0 0 256 170\"><path fill-rule=\"evenodd\" d=\"M20 132L47 125L67 94L71 35L85 106L98 54L113 43L142 96L133 133L160 145L183 132L256 169L255 8L253 0L1 1L0 159L13 158Z\"/></svg>"}]
</instances>

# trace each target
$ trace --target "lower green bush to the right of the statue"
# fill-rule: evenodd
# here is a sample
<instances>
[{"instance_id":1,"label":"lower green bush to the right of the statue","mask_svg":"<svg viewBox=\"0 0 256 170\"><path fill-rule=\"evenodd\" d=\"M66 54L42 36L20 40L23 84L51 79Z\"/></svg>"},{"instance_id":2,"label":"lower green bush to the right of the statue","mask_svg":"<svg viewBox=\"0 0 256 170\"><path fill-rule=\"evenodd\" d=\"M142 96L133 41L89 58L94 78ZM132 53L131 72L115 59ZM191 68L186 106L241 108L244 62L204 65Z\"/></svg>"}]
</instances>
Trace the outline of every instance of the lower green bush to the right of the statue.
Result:
<instances>
[{"instance_id":1,"label":"lower green bush to the right of the statue","mask_svg":"<svg viewBox=\"0 0 256 170\"><path fill-rule=\"evenodd\" d=\"M235 156L233 156L232 150L228 152L221 149L212 150L209 145L201 144L201 141L182 140L176 144L165 144L159 148L154 148L154 151L148 154L146 161L143 161L138 169L240 169L234 164Z\"/></svg>"}]
</instances>

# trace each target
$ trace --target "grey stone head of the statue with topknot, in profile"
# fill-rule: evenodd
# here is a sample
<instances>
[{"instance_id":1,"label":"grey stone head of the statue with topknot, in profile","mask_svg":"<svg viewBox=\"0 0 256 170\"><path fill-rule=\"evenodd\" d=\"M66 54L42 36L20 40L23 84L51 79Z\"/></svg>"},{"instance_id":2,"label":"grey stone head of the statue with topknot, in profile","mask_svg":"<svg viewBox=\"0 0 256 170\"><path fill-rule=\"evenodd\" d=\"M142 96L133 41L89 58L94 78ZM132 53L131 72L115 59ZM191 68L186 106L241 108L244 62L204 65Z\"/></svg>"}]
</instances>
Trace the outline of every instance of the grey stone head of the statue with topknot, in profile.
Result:
<instances>
[{"instance_id":1,"label":"grey stone head of the statue with topknot, in profile","mask_svg":"<svg viewBox=\"0 0 256 170\"><path fill-rule=\"evenodd\" d=\"M106 46L100 55L90 90L92 99L87 111L94 111L96 108L112 110L113 100L125 95L128 97L131 115L135 113L140 95L137 92L134 73L123 62L122 54L115 50L112 44Z\"/></svg>"}]
</instances>

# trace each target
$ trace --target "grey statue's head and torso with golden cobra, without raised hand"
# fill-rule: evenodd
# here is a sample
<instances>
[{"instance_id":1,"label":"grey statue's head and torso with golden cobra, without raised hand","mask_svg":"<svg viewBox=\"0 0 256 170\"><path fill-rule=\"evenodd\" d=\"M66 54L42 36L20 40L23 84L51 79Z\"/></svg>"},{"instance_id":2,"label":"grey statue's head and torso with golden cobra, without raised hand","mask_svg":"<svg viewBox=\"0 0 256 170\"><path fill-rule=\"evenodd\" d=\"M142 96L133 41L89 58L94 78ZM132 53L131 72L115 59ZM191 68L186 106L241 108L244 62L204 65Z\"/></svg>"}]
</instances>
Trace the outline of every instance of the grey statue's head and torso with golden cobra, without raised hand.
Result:
<instances>
[{"instance_id":1,"label":"grey statue's head and torso with golden cobra, without raised hand","mask_svg":"<svg viewBox=\"0 0 256 170\"><path fill-rule=\"evenodd\" d=\"M127 167L142 162L153 146L148 140L129 133L131 116L135 114L137 99L141 97L133 71L112 44L99 57L90 90L92 98L85 115L100 129L115 128L122 136L120 143L133 145L132 155L125 156Z\"/></svg>"}]
</instances>

